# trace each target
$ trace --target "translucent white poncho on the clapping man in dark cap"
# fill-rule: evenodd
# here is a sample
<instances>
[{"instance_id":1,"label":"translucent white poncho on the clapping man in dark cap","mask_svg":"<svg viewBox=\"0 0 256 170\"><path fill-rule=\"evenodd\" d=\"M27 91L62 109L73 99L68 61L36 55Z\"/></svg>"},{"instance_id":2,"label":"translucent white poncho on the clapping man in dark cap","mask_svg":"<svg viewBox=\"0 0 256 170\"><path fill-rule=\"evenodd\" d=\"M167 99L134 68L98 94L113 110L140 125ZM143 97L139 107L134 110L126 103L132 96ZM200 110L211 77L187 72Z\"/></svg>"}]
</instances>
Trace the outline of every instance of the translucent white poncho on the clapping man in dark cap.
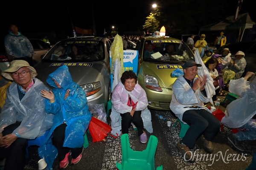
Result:
<instances>
[{"instance_id":1,"label":"translucent white poncho on the clapping man in dark cap","mask_svg":"<svg viewBox=\"0 0 256 170\"><path fill-rule=\"evenodd\" d=\"M195 77L195 79L197 78L198 77ZM170 109L175 113L177 118L183 122L183 113L188 110L205 109L211 113L211 111L204 106L204 103L209 102L209 100L210 99L207 98L207 96L204 96L204 94L201 93L200 89L194 92L183 75L180 75L172 86L172 101L170 103ZM194 105L200 108L186 108ZM186 124L186 122L183 123Z\"/></svg>"}]
</instances>

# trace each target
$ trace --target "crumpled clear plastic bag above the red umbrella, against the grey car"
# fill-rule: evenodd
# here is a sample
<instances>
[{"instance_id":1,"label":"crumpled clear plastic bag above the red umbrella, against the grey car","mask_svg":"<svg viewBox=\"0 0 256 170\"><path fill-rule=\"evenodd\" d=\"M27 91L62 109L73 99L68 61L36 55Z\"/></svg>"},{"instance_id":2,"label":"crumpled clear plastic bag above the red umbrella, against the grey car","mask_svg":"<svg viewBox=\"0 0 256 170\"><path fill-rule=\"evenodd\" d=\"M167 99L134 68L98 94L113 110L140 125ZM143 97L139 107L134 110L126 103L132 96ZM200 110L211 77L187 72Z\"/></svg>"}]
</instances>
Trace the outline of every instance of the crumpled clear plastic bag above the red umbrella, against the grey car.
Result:
<instances>
[{"instance_id":1,"label":"crumpled clear plastic bag above the red umbrella, against the grey car","mask_svg":"<svg viewBox=\"0 0 256 170\"><path fill-rule=\"evenodd\" d=\"M104 103L102 104L88 104L89 111L92 113L92 116L101 120L104 123L107 123L107 113L104 106Z\"/></svg>"}]
</instances>

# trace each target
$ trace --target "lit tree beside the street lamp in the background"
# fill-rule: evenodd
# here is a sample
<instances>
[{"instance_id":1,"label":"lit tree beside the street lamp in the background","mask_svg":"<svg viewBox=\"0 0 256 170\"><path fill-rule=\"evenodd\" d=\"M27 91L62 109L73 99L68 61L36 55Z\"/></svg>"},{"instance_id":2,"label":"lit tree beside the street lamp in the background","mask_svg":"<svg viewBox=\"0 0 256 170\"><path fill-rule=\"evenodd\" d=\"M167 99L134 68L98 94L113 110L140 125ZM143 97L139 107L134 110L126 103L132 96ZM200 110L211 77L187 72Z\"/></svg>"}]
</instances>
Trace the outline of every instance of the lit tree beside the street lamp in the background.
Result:
<instances>
[{"instance_id":1,"label":"lit tree beside the street lamp in the background","mask_svg":"<svg viewBox=\"0 0 256 170\"><path fill-rule=\"evenodd\" d=\"M145 25L143 25L143 29L148 30L148 32L153 33L154 31L160 31L159 21L160 12L157 10L154 13L150 13L148 17L146 17Z\"/></svg>"}]
</instances>

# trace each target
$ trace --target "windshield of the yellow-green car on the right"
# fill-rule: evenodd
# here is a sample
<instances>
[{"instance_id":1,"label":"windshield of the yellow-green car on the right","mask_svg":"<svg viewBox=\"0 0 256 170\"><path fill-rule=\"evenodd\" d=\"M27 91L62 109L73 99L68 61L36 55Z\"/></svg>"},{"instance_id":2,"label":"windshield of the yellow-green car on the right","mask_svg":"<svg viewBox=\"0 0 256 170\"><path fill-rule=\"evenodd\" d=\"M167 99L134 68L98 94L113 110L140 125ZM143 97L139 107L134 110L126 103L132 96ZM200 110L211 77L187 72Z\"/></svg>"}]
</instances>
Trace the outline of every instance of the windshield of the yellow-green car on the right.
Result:
<instances>
[{"instance_id":1,"label":"windshield of the yellow-green car on the right","mask_svg":"<svg viewBox=\"0 0 256 170\"><path fill-rule=\"evenodd\" d=\"M194 54L180 40L149 40L144 43L143 61L180 62L194 60Z\"/></svg>"}]
</instances>

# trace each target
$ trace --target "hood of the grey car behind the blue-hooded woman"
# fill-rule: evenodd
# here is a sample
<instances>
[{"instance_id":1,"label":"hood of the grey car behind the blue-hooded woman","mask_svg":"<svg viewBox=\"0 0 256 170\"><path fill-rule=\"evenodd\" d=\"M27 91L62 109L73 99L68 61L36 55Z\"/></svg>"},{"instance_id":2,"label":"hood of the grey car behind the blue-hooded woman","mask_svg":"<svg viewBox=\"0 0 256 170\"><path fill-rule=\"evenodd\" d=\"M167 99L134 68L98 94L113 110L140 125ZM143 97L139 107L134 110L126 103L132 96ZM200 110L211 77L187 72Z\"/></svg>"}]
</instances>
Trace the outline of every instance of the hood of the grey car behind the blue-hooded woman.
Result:
<instances>
[{"instance_id":1,"label":"hood of the grey car behind the blue-hooded woman","mask_svg":"<svg viewBox=\"0 0 256 170\"><path fill-rule=\"evenodd\" d=\"M96 77L102 69L103 62L54 63L41 61L38 65L35 65L35 69L38 73L37 78L49 87L46 82L48 75L64 64L67 64L73 82L76 82L78 85L84 85L97 81Z\"/></svg>"}]
</instances>

